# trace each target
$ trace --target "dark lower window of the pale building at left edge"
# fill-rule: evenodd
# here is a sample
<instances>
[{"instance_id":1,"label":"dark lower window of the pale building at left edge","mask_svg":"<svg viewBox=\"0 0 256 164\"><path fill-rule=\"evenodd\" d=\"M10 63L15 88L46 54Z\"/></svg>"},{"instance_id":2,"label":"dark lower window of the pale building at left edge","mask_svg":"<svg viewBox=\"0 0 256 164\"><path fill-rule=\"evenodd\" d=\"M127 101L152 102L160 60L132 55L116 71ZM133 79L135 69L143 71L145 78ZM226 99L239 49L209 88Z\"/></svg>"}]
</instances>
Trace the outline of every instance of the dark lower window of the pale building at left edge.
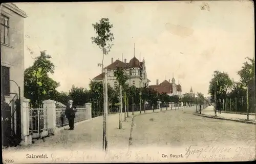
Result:
<instances>
[{"instance_id":1,"label":"dark lower window of the pale building at left edge","mask_svg":"<svg viewBox=\"0 0 256 164\"><path fill-rule=\"evenodd\" d=\"M10 68L1 66L2 71L2 92L5 96L10 95Z\"/></svg>"}]
</instances>

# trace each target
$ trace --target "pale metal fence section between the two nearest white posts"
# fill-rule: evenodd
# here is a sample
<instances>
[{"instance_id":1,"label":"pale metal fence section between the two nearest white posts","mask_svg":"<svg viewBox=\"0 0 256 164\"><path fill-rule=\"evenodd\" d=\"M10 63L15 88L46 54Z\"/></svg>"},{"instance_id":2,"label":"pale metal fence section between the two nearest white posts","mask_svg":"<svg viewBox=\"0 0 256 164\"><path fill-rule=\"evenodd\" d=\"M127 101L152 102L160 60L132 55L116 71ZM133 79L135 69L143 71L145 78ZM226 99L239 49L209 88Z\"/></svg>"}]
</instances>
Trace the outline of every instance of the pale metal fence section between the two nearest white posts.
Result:
<instances>
[{"instance_id":1,"label":"pale metal fence section between the two nearest white posts","mask_svg":"<svg viewBox=\"0 0 256 164\"><path fill-rule=\"evenodd\" d=\"M47 108L29 108L29 132L32 133L33 139L48 135Z\"/></svg>"}]
</instances>

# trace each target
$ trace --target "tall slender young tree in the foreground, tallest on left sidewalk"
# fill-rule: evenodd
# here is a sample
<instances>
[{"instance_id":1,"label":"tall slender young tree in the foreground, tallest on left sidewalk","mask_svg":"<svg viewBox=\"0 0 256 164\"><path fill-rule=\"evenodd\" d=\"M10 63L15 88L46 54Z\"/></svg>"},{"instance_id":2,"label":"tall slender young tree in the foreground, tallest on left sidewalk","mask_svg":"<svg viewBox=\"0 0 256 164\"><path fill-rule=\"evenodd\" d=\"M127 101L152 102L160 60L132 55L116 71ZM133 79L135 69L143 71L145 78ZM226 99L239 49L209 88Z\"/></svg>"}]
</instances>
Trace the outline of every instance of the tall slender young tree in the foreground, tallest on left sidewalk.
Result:
<instances>
[{"instance_id":1,"label":"tall slender young tree in the foreground, tallest on left sidewalk","mask_svg":"<svg viewBox=\"0 0 256 164\"><path fill-rule=\"evenodd\" d=\"M111 29L113 28L113 24L109 22L109 18L101 18L101 20L96 23L93 23L93 28L97 33L97 37L91 37L93 44L96 44L102 50L102 62L98 64L101 66L102 74L103 74L103 62L104 55L109 54L113 44L111 42L114 40L114 35L111 33ZM103 76L104 81L104 76ZM106 83L106 81L105 81ZM104 84L104 83L103 83ZM104 85L103 85L103 100L105 102L105 93L104 93ZM103 105L104 106L104 105ZM103 150L106 150L108 147L108 142L106 140L106 111L103 114Z\"/></svg>"}]
</instances>

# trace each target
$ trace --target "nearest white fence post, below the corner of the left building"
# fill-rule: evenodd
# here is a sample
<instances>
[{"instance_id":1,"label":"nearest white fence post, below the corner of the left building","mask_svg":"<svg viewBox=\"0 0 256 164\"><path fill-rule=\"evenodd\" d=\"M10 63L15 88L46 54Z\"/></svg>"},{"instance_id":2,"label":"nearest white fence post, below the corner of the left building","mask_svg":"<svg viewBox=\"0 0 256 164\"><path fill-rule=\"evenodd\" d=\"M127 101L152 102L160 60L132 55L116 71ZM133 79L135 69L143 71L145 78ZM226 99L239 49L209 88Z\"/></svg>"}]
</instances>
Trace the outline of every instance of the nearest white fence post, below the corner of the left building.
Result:
<instances>
[{"instance_id":1,"label":"nearest white fence post, below the corner of the left building","mask_svg":"<svg viewBox=\"0 0 256 164\"><path fill-rule=\"evenodd\" d=\"M29 99L21 100L21 122L22 122L22 142L20 145L31 145L32 135L29 134Z\"/></svg>"}]
</instances>

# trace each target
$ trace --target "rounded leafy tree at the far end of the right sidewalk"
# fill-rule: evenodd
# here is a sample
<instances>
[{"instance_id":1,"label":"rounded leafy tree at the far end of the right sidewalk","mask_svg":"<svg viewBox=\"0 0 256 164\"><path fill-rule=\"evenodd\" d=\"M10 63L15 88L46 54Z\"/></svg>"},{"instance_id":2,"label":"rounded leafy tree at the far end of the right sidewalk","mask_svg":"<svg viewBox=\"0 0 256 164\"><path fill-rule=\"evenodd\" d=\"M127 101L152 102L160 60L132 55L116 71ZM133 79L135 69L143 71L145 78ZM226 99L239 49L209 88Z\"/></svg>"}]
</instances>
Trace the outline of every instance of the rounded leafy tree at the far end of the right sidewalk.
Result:
<instances>
[{"instance_id":1,"label":"rounded leafy tree at the far end of the right sidewalk","mask_svg":"<svg viewBox=\"0 0 256 164\"><path fill-rule=\"evenodd\" d=\"M214 102L214 94L216 98L223 99L227 96L227 90L231 88L232 80L225 72L214 71L214 77L210 81L208 93L211 95L211 102Z\"/></svg>"}]
</instances>

